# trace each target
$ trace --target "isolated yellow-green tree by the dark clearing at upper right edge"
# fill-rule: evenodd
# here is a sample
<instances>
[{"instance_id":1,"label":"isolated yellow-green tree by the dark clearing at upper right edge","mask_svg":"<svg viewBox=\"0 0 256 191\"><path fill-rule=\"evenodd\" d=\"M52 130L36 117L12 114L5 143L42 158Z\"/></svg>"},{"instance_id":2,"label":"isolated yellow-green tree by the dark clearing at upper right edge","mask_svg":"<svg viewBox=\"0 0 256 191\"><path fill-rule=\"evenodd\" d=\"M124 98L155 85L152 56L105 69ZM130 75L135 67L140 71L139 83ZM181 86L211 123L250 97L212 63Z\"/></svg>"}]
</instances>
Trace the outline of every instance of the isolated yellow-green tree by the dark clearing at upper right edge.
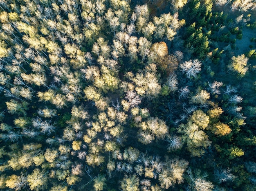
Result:
<instances>
[{"instance_id":1,"label":"isolated yellow-green tree by the dark clearing at upper right edge","mask_svg":"<svg viewBox=\"0 0 256 191\"><path fill-rule=\"evenodd\" d=\"M248 58L245 57L244 54L237 57L233 56L231 58L231 63L227 67L229 70L238 73L238 77L244 77L248 70L248 67L246 67L247 61Z\"/></svg>"}]
</instances>

